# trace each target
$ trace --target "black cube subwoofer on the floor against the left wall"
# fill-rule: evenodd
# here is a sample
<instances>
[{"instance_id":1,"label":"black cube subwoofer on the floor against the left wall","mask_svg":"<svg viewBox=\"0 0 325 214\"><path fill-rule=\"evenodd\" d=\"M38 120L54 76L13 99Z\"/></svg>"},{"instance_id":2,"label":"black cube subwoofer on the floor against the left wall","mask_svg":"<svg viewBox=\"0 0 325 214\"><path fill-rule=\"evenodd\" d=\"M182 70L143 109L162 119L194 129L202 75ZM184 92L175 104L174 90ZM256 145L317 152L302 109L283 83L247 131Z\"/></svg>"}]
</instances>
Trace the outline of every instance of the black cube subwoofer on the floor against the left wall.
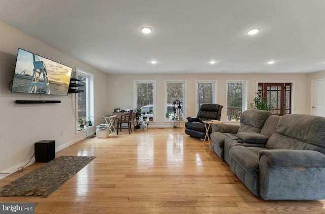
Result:
<instances>
[{"instance_id":1,"label":"black cube subwoofer on the floor against the left wall","mask_svg":"<svg viewBox=\"0 0 325 214\"><path fill-rule=\"evenodd\" d=\"M55 158L55 140L41 140L35 143L35 161L47 163Z\"/></svg>"}]
</instances>

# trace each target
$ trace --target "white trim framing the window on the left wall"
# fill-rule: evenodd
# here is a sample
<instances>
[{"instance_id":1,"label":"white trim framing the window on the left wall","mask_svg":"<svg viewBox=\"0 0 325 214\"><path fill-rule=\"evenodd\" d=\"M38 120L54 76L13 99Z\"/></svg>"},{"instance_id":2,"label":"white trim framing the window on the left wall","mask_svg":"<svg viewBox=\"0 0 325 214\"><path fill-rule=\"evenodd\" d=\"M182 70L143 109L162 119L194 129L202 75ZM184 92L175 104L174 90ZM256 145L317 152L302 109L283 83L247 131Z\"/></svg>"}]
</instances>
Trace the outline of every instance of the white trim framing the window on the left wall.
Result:
<instances>
[{"instance_id":1,"label":"white trim framing the window on the left wall","mask_svg":"<svg viewBox=\"0 0 325 214\"><path fill-rule=\"evenodd\" d=\"M84 128L83 130L88 130L90 128L92 128L95 124L95 118L94 118L94 104L93 104L93 91L94 91L94 84L93 84L93 74L88 72L87 70L84 70L82 68L76 67L76 78L78 78L78 74L84 74L88 76L88 93L86 94L86 100L88 104L88 108L87 108L87 113L86 115L88 115L88 117L90 118L91 122L92 122L92 126L89 126L87 128ZM78 130L78 96L77 94L75 94L75 99L76 99L76 133L80 133L83 130Z\"/></svg>"}]
</instances>

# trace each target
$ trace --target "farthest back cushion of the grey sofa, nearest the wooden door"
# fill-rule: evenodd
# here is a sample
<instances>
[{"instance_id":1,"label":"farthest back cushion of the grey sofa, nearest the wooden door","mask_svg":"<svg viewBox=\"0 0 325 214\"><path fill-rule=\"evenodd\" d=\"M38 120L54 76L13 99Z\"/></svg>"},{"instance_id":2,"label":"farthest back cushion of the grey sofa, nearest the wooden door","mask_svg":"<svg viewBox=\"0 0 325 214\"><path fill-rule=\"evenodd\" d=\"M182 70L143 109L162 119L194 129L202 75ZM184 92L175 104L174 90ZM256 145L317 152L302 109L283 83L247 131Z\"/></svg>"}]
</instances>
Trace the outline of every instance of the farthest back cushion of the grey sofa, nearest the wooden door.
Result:
<instances>
[{"instance_id":1,"label":"farthest back cushion of the grey sofa, nearest the wooden door","mask_svg":"<svg viewBox=\"0 0 325 214\"><path fill-rule=\"evenodd\" d=\"M247 110L240 116L240 127L238 132L261 132L266 119L272 115L264 110Z\"/></svg>"}]
</instances>

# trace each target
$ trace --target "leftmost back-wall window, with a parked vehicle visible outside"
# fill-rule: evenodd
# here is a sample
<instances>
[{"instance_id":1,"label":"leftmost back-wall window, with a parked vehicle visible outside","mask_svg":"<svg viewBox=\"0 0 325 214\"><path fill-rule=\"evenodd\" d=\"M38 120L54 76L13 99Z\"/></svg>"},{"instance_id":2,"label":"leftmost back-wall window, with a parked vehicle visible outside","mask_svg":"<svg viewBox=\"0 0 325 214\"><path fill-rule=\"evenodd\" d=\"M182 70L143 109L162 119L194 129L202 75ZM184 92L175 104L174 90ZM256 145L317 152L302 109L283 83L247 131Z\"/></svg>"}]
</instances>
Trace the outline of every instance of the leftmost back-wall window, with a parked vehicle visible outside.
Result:
<instances>
[{"instance_id":1,"label":"leftmost back-wall window, with a parked vehicle visible outside","mask_svg":"<svg viewBox=\"0 0 325 214\"><path fill-rule=\"evenodd\" d=\"M141 109L143 117L153 117L155 120L155 81L154 80L135 80L135 108ZM145 114L145 115L144 115ZM147 119L148 120L148 119Z\"/></svg>"}]
</instances>

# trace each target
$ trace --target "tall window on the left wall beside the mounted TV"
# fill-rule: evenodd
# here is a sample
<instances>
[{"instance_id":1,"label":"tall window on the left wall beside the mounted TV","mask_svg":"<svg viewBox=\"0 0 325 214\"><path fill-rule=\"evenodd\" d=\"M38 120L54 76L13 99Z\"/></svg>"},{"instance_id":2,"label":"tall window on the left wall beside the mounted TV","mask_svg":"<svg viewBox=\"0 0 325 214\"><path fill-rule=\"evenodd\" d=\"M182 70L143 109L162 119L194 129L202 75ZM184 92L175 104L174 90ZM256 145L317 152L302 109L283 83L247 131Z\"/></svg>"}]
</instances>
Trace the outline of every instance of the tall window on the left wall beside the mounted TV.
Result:
<instances>
[{"instance_id":1,"label":"tall window on the left wall beside the mounted TV","mask_svg":"<svg viewBox=\"0 0 325 214\"><path fill-rule=\"evenodd\" d=\"M76 68L77 70L77 79L78 84L84 85L80 87L80 89L84 90L82 93L77 93L76 95L76 106L77 106L77 119L84 120L85 122L91 121L94 124L93 119L93 76L82 70L80 68ZM81 119L80 119L81 118ZM79 127L79 124L77 122Z\"/></svg>"}]
</instances>

